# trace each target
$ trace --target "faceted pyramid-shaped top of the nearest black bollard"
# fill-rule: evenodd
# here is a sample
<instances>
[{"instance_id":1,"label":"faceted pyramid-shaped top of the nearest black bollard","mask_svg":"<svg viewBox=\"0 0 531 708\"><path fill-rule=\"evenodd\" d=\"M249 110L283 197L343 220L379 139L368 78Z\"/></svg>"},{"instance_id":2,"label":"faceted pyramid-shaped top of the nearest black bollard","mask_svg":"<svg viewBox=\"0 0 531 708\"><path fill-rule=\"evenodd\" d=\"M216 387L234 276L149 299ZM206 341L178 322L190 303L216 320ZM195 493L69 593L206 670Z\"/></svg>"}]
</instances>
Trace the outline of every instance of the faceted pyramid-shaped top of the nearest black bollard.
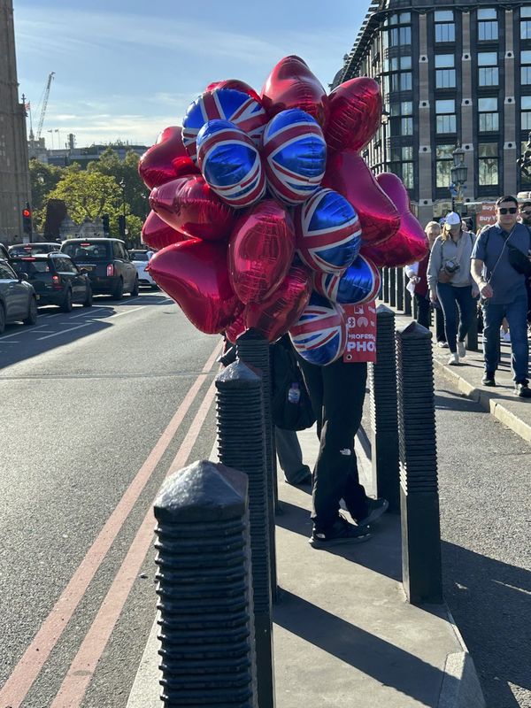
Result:
<instances>
[{"instance_id":1,"label":"faceted pyramid-shaped top of the nearest black bollard","mask_svg":"<svg viewBox=\"0 0 531 708\"><path fill-rule=\"evenodd\" d=\"M163 523L238 519L247 504L247 475L207 460L174 472L155 499L155 518Z\"/></svg>"}]
</instances>

